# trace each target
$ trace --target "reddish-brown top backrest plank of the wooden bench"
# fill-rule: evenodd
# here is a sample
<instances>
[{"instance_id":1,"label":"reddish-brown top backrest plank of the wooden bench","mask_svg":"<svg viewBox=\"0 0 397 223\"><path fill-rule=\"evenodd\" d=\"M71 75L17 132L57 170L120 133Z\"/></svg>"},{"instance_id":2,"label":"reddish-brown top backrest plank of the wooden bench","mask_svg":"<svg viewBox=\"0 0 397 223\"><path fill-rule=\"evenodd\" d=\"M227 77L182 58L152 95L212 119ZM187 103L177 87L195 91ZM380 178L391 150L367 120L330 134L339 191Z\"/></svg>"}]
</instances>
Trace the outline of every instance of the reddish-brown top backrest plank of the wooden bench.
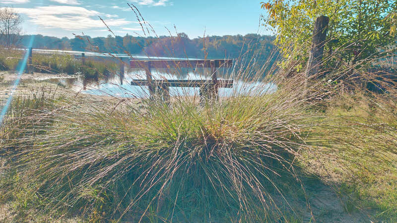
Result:
<instances>
[{"instance_id":1,"label":"reddish-brown top backrest plank of the wooden bench","mask_svg":"<svg viewBox=\"0 0 397 223\"><path fill-rule=\"evenodd\" d=\"M214 67L232 67L232 59L213 59L213 60L131 60L131 68L145 68L147 63L151 63L153 68L175 68L175 67L211 67L213 63Z\"/></svg>"}]
</instances>

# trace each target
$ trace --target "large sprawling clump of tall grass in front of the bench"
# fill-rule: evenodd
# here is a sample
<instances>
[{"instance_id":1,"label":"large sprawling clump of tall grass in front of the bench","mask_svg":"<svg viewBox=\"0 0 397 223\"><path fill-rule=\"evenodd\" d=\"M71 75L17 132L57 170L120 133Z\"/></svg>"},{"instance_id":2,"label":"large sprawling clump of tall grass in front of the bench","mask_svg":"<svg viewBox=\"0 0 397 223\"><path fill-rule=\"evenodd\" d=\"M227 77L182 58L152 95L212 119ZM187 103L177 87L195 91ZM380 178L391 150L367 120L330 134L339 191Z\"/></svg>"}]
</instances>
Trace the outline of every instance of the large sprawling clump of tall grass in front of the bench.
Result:
<instances>
[{"instance_id":1,"label":"large sprawling clump of tall grass in front of the bench","mask_svg":"<svg viewBox=\"0 0 397 223\"><path fill-rule=\"evenodd\" d=\"M35 185L36 207L92 221L285 220L294 209L283 185L304 190L294 160L319 95L302 98L300 79L278 90L279 79L262 80L203 106L197 95L65 100L43 111L51 117L43 134L4 144L20 148L8 150L10 168Z\"/></svg>"}]
</instances>

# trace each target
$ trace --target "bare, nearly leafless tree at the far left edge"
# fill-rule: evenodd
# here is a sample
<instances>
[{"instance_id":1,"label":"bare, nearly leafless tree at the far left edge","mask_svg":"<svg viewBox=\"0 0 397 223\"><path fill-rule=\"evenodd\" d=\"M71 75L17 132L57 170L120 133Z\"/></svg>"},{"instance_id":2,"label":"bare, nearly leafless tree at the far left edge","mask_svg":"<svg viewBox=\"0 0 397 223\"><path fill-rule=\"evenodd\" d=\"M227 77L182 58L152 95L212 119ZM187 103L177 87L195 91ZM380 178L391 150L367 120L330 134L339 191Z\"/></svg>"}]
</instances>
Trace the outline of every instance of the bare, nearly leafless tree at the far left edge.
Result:
<instances>
[{"instance_id":1,"label":"bare, nearly leafless tree at the far left edge","mask_svg":"<svg viewBox=\"0 0 397 223\"><path fill-rule=\"evenodd\" d=\"M7 49L20 40L22 22L21 16L13 8L0 8L0 40Z\"/></svg>"}]
</instances>

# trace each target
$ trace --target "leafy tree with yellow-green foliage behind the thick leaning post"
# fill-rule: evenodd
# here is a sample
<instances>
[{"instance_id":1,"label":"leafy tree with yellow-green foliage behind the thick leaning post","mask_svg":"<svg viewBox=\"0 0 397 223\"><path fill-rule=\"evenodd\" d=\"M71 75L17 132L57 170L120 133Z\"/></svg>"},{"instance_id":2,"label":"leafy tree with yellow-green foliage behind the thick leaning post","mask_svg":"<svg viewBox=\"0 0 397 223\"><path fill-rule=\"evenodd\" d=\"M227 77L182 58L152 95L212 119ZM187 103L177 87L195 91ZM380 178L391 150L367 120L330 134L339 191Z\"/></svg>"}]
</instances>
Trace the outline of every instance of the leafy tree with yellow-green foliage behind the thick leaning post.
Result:
<instances>
[{"instance_id":1,"label":"leafy tree with yellow-green foliage behind the thick leaning post","mask_svg":"<svg viewBox=\"0 0 397 223\"><path fill-rule=\"evenodd\" d=\"M396 43L395 0L269 0L264 25L276 33L285 57L307 57L318 16L330 18L325 52L344 49L339 60L354 63L380 47ZM300 64L301 66L302 64ZM299 68L299 67L298 67Z\"/></svg>"}]
</instances>

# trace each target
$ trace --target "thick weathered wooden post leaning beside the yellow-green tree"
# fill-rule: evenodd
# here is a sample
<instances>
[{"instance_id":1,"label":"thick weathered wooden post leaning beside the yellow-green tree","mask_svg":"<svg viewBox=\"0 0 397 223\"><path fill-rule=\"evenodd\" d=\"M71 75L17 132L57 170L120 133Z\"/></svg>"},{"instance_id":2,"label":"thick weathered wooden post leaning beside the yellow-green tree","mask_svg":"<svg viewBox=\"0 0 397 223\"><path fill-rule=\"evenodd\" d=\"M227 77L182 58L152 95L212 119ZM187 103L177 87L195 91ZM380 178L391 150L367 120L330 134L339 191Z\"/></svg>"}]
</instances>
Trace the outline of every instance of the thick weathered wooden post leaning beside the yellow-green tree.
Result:
<instances>
[{"instance_id":1,"label":"thick weathered wooden post leaning beside the yellow-green tree","mask_svg":"<svg viewBox=\"0 0 397 223\"><path fill-rule=\"evenodd\" d=\"M309 54L309 60L306 67L306 77L317 74L321 69L321 60L323 58L324 44L327 38L328 23L330 18L319 16L314 23L312 47Z\"/></svg>"}]
</instances>

